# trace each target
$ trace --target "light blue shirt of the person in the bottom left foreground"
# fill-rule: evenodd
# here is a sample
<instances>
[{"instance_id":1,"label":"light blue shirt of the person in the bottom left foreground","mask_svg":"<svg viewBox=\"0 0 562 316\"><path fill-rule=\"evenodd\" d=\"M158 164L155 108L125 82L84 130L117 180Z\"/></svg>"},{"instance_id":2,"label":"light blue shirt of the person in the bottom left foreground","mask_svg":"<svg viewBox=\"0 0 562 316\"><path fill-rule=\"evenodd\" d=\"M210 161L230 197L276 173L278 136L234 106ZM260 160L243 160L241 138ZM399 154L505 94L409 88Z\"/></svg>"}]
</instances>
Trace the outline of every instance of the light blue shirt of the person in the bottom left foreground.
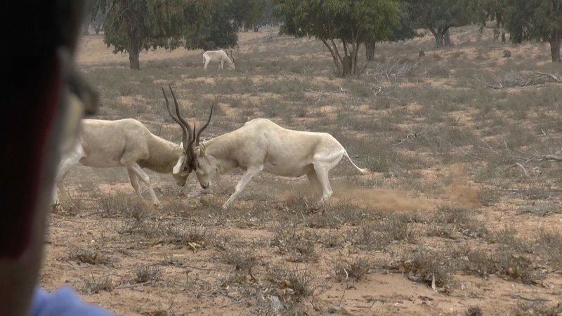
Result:
<instances>
[{"instance_id":1,"label":"light blue shirt of the person in the bottom left foreground","mask_svg":"<svg viewBox=\"0 0 562 316\"><path fill-rule=\"evenodd\" d=\"M113 316L112 312L84 303L70 287L53 294L37 287L33 294L31 316Z\"/></svg>"}]
</instances>

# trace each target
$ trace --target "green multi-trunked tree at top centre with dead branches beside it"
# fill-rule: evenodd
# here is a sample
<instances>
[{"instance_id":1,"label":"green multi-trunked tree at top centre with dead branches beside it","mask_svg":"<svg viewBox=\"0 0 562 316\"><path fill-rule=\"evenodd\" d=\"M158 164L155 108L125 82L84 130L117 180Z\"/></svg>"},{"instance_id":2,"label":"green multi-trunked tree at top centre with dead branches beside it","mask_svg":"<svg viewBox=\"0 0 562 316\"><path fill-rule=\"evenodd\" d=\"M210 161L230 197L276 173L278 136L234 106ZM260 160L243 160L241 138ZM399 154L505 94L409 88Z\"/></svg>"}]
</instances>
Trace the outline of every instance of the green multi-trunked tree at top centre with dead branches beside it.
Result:
<instances>
[{"instance_id":1,"label":"green multi-trunked tree at top centre with dead branches beside it","mask_svg":"<svg viewBox=\"0 0 562 316\"><path fill-rule=\"evenodd\" d=\"M386 39L398 22L396 0L273 0L273 4L273 15L285 18L280 33L320 39L341 77L360 72L360 44Z\"/></svg>"}]
</instances>

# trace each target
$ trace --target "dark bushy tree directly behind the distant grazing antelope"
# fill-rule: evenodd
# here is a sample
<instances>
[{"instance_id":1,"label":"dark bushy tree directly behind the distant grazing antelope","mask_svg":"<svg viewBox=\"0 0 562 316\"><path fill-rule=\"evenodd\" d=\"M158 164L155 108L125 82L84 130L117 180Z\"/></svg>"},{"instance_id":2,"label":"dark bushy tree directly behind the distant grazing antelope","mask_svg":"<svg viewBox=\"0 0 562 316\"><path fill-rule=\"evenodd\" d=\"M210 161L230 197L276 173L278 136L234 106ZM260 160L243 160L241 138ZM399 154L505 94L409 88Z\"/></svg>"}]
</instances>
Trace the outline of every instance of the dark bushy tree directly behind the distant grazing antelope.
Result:
<instances>
[{"instance_id":1,"label":"dark bushy tree directly behind the distant grazing antelope","mask_svg":"<svg viewBox=\"0 0 562 316\"><path fill-rule=\"evenodd\" d=\"M264 0L212 0L210 18L185 29L185 48L233 48L240 27L253 27L263 14Z\"/></svg>"}]
</instances>

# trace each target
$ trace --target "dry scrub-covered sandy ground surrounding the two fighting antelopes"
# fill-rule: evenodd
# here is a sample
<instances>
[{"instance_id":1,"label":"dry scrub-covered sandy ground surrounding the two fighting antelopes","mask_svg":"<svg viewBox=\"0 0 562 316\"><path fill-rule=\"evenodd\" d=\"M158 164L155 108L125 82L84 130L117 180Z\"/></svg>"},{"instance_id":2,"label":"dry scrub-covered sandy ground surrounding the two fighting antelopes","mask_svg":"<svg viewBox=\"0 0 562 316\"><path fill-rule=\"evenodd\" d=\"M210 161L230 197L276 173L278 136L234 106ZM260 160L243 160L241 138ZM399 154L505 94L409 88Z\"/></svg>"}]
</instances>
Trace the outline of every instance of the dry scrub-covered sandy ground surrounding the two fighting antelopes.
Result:
<instances>
[{"instance_id":1,"label":"dry scrub-covered sandy ground surrounding the two fighting antelopes","mask_svg":"<svg viewBox=\"0 0 562 316\"><path fill-rule=\"evenodd\" d=\"M547 45L499 44L491 28L452 39L378 44L341 79L319 41L275 29L240 33L235 71L205 72L202 51L183 49L143 52L131 71L101 35L83 37L96 118L179 143L171 84L197 126L216 104L203 138L266 117L331 133L372 172L344 158L320 209L306 177L261 173L224 211L242 171L209 195L193 174L179 190L147 171L156 210L124 168L79 166L73 206L49 218L41 285L120 315L561 315L562 67Z\"/></svg>"}]
</instances>

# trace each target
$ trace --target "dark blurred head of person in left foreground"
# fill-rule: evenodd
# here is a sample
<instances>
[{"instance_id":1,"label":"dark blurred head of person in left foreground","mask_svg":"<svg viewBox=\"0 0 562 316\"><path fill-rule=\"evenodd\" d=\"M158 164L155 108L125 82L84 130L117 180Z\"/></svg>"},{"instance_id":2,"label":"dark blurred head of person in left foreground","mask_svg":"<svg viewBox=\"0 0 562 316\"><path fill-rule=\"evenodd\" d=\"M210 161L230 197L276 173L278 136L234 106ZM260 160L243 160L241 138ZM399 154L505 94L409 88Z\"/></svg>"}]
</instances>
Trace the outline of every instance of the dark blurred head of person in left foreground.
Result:
<instances>
[{"instance_id":1,"label":"dark blurred head of person in left foreground","mask_svg":"<svg viewBox=\"0 0 562 316\"><path fill-rule=\"evenodd\" d=\"M25 315L37 284L56 166L84 114L73 65L85 10L81 0L3 6L0 315Z\"/></svg>"}]
</instances>

